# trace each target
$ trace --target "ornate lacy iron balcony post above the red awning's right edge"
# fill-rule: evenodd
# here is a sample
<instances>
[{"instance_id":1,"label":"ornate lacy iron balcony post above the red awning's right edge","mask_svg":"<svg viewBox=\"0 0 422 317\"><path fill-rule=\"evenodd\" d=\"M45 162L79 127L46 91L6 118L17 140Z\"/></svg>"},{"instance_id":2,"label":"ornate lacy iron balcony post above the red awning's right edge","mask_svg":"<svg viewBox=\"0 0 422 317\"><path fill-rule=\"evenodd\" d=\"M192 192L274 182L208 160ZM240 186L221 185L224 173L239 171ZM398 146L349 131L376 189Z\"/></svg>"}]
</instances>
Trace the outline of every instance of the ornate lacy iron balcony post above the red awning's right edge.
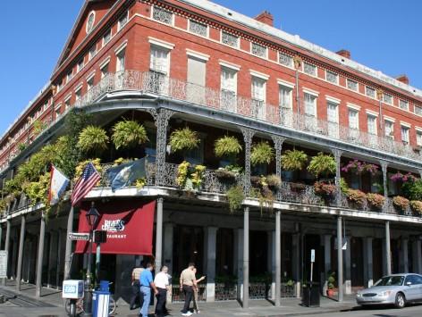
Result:
<instances>
[{"instance_id":1,"label":"ornate lacy iron balcony post above the red awning's right edge","mask_svg":"<svg viewBox=\"0 0 422 317\"><path fill-rule=\"evenodd\" d=\"M156 186L165 185L165 150L167 146L167 127L173 111L149 109L156 123Z\"/></svg>"}]
</instances>

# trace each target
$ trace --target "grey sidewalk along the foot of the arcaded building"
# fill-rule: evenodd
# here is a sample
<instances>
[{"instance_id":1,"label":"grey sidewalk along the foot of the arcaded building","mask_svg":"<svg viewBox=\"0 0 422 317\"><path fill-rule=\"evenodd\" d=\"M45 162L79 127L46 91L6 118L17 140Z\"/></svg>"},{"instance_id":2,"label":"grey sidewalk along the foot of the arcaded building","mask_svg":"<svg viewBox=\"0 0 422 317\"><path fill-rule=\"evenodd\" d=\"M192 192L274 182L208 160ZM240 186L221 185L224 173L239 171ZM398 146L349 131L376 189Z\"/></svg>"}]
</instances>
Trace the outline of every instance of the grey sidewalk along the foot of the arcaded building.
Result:
<instances>
[{"instance_id":1,"label":"grey sidewalk along the foot of the arcaded building","mask_svg":"<svg viewBox=\"0 0 422 317\"><path fill-rule=\"evenodd\" d=\"M56 289L43 288L41 298L35 298L35 287L23 284L21 293L17 293L14 282L7 281L7 286L0 286L0 296L11 298L4 304L0 304L0 317L64 317L62 293ZM13 298L16 296L16 298ZM274 307L267 300L250 300L249 309L243 309L236 301L216 303L199 303L203 317L215 316L307 316L321 313L336 313L347 311L356 306L354 296L345 296L342 303L332 299L321 297L320 307L304 307L299 298L282 298L282 306ZM171 315L181 316L182 303L167 305ZM149 307L150 313L154 308ZM128 304L118 304L115 316L138 317L139 309L131 311ZM153 316L151 314L150 316Z\"/></svg>"}]
</instances>

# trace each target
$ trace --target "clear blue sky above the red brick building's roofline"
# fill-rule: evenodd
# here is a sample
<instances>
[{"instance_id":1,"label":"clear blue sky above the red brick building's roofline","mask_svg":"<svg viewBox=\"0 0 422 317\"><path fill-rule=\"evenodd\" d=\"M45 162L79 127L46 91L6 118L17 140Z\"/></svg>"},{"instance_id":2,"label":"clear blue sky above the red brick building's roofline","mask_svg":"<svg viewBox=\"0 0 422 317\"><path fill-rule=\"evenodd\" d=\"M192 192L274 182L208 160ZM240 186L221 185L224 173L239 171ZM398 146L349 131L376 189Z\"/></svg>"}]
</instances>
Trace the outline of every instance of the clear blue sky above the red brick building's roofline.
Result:
<instances>
[{"instance_id":1,"label":"clear blue sky above the red brick building's roofline","mask_svg":"<svg viewBox=\"0 0 422 317\"><path fill-rule=\"evenodd\" d=\"M419 0L214 0L234 11L274 15L274 26L422 88ZM23 4L23 3L22 3ZM0 135L49 79L83 0L2 4ZM19 14L17 11L19 10ZM19 18L19 20L18 20ZM7 31L6 31L7 30Z\"/></svg>"}]
</instances>

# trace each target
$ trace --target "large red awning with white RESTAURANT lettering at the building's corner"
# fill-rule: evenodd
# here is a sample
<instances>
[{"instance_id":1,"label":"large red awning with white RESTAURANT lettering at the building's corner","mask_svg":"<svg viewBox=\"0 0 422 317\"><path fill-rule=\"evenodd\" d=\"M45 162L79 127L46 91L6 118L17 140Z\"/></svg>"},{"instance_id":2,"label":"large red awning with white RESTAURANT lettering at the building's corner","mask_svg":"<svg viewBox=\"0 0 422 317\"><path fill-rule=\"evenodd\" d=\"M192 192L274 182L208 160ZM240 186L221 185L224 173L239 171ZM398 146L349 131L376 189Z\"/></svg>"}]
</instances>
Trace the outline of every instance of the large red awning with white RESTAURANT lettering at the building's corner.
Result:
<instances>
[{"instance_id":1,"label":"large red awning with white RESTAURANT lettering at the building's corner","mask_svg":"<svg viewBox=\"0 0 422 317\"><path fill-rule=\"evenodd\" d=\"M90 204L80 207L79 232L89 232L85 214ZM100 213L97 228L107 231L107 242L101 245L102 254L152 254L152 235L156 201L139 203L139 201L113 201L97 203ZM95 252L97 244L93 244ZM87 241L77 241L75 253L86 253Z\"/></svg>"}]
</instances>

